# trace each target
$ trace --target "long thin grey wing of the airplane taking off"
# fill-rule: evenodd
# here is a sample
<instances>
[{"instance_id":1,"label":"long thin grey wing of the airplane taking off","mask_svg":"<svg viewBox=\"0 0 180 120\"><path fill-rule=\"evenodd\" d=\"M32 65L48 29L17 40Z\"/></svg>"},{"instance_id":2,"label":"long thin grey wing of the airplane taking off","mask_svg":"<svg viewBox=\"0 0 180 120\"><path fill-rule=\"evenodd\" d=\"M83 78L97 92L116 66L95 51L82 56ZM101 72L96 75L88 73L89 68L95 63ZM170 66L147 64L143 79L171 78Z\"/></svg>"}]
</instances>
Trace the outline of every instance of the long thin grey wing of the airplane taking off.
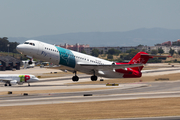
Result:
<instances>
[{"instance_id":1,"label":"long thin grey wing of the airplane taking off","mask_svg":"<svg viewBox=\"0 0 180 120\"><path fill-rule=\"evenodd\" d=\"M93 67L94 69L122 69L122 68L132 68L140 67L143 64L120 64L120 65L97 65L97 64L79 64L80 66Z\"/></svg>"}]
</instances>

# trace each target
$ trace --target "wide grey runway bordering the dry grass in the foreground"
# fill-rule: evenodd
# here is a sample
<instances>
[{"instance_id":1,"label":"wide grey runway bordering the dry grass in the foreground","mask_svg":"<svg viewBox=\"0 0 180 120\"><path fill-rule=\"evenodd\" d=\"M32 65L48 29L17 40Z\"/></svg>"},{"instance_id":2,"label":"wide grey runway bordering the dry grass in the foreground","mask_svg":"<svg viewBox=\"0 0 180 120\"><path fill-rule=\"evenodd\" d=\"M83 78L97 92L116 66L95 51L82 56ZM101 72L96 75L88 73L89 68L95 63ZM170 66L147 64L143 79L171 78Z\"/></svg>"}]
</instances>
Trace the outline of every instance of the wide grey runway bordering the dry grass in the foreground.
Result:
<instances>
[{"instance_id":1,"label":"wide grey runway bordering the dry grass in the foreground","mask_svg":"<svg viewBox=\"0 0 180 120\"><path fill-rule=\"evenodd\" d=\"M43 93L29 96L5 95L0 97L0 106L38 105L55 103L77 103L109 100L129 100L142 98L167 98L180 97L180 81L173 82L148 82L136 84L121 84L107 90ZM62 85L61 87L107 87L105 85ZM90 95L90 96L84 96ZM91 96L92 95L92 96Z\"/></svg>"}]
</instances>

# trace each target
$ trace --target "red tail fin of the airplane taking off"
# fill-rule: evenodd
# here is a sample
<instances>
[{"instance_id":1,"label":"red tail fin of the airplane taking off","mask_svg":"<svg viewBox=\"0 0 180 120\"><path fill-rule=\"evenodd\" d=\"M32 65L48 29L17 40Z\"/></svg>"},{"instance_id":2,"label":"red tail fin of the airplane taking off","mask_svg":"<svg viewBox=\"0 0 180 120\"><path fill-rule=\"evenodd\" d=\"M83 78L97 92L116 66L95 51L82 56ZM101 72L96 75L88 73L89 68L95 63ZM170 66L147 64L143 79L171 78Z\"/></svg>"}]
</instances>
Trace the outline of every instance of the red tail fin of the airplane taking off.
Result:
<instances>
[{"instance_id":1,"label":"red tail fin of the airplane taking off","mask_svg":"<svg viewBox=\"0 0 180 120\"><path fill-rule=\"evenodd\" d=\"M129 64L146 64L149 58L153 58L151 55L148 55L145 52L137 53L129 62ZM133 70L141 71L144 66L134 67Z\"/></svg>"}]
</instances>

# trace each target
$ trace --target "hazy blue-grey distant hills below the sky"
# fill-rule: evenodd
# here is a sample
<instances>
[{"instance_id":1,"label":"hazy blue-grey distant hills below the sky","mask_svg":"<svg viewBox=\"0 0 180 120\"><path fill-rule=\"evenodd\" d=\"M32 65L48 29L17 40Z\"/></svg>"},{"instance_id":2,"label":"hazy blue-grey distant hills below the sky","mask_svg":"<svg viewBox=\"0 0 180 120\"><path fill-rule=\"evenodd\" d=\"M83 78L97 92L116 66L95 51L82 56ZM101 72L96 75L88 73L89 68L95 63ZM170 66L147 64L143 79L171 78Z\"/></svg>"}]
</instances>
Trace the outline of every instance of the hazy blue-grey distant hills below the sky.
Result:
<instances>
[{"instance_id":1,"label":"hazy blue-grey distant hills below the sky","mask_svg":"<svg viewBox=\"0 0 180 120\"><path fill-rule=\"evenodd\" d=\"M166 41L180 39L180 29L140 28L126 32L80 32L58 35L44 35L33 38L8 37L9 41L23 43L28 39L36 39L50 44L89 44L99 46L137 46L139 44L153 46Z\"/></svg>"}]
</instances>

